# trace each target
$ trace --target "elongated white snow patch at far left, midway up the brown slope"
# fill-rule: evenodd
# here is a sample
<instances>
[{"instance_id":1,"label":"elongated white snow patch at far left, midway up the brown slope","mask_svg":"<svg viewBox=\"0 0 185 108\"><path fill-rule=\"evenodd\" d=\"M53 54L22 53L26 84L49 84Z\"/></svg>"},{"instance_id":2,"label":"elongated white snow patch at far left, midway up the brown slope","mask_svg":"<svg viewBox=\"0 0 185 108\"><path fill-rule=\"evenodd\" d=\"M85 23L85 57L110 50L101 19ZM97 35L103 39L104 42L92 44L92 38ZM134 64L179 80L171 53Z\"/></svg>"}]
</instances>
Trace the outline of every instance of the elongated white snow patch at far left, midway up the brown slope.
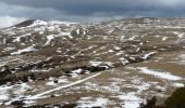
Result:
<instances>
[{"instance_id":1,"label":"elongated white snow patch at far left, midway up the brown slope","mask_svg":"<svg viewBox=\"0 0 185 108\"><path fill-rule=\"evenodd\" d=\"M34 52L36 51L34 49L34 46L28 46L28 48L25 48L25 49L22 49L22 50L18 50L16 52L13 52L13 53L10 53L11 55L18 55L18 54L22 54L22 53L28 53L28 52Z\"/></svg>"}]
</instances>

